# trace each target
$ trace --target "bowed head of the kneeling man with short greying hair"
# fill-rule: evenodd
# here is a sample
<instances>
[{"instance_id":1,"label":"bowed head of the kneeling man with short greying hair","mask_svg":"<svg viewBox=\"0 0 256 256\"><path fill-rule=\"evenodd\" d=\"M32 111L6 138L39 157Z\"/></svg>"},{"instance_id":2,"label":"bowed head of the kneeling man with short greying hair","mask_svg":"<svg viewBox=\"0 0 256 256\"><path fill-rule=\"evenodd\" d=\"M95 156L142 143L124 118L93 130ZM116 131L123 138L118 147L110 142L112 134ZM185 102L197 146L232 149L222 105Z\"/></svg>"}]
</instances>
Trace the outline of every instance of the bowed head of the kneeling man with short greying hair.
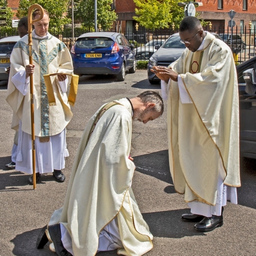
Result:
<instances>
[{"instance_id":1,"label":"bowed head of the kneeling man with short greying hair","mask_svg":"<svg viewBox=\"0 0 256 256\"><path fill-rule=\"evenodd\" d=\"M144 91L130 99L130 102L133 107L133 121L146 124L163 114L163 99L155 91Z\"/></svg>"}]
</instances>

